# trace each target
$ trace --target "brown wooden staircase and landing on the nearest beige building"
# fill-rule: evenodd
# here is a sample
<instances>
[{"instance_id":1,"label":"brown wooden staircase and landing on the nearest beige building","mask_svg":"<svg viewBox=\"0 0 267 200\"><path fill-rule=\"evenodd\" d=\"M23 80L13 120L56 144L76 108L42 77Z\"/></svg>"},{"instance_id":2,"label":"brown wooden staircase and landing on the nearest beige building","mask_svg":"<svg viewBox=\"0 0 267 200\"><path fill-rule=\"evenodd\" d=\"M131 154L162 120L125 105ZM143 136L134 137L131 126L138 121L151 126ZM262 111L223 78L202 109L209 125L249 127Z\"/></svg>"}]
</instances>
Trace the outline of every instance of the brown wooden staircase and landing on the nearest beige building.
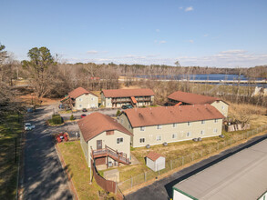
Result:
<instances>
[{"instance_id":1,"label":"brown wooden staircase and landing on the nearest beige building","mask_svg":"<svg viewBox=\"0 0 267 200\"><path fill-rule=\"evenodd\" d=\"M118 153L118 151L115 151L114 149L108 147L108 145L105 145L105 148L93 150L91 147L91 155L92 158L98 158L98 157L111 157L112 159L116 160L119 163L122 163L124 165L129 165L129 159L127 158L127 154L124 154L122 152Z\"/></svg>"}]
</instances>

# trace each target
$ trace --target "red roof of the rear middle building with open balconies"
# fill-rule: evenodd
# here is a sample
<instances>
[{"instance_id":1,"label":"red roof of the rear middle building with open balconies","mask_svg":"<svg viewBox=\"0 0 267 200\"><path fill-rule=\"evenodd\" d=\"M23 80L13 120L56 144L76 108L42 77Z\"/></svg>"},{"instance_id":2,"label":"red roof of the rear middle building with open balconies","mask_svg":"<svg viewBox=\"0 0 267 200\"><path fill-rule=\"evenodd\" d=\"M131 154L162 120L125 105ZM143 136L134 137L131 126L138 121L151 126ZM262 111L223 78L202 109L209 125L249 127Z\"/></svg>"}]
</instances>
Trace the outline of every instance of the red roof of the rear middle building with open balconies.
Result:
<instances>
[{"instance_id":1,"label":"red roof of the rear middle building with open balconies","mask_svg":"<svg viewBox=\"0 0 267 200\"><path fill-rule=\"evenodd\" d=\"M102 90L105 97L130 97L130 96L144 96L155 95L150 89L116 89L116 90Z\"/></svg>"}]
</instances>

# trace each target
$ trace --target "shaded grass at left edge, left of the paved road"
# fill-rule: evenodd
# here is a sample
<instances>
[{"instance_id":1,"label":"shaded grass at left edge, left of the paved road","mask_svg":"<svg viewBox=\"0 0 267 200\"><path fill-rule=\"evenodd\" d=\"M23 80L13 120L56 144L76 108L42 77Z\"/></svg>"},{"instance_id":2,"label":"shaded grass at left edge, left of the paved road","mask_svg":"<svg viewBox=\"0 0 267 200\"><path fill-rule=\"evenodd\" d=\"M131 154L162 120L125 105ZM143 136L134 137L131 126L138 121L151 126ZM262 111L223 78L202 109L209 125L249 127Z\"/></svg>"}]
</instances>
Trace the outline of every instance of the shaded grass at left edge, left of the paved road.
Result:
<instances>
[{"instance_id":1,"label":"shaded grass at left edge, left of the paved road","mask_svg":"<svg viewBox=\"0 0 267 200\"><path fill-rule=\"evenodd\" d=\"M9 115L0 125L0 199L15 199L22 116ZM16 138L16 154L15 154ZM16 156L15 156L16 155Z\"/></svg>"}]
</instances>

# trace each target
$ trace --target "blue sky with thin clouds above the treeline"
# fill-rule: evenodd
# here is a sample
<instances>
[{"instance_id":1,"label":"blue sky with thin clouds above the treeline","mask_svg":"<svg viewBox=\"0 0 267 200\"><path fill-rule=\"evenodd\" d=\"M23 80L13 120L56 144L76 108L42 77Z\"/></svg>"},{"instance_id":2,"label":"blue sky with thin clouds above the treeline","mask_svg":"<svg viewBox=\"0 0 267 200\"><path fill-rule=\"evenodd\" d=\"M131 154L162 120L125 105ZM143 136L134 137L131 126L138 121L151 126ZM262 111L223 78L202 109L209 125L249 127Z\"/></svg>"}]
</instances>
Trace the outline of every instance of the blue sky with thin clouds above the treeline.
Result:
<instances>
[{"instance_id":1,"label":"blue sky with thin clouds above the treeline","mask_svg":"<svg viewBox=\"0 0 267 200\"><path fill-rule=\"evenodd\" d=\"M266 0L2 0L0 43L68 63L267 64Z\"/></svg>"}]
</instances>

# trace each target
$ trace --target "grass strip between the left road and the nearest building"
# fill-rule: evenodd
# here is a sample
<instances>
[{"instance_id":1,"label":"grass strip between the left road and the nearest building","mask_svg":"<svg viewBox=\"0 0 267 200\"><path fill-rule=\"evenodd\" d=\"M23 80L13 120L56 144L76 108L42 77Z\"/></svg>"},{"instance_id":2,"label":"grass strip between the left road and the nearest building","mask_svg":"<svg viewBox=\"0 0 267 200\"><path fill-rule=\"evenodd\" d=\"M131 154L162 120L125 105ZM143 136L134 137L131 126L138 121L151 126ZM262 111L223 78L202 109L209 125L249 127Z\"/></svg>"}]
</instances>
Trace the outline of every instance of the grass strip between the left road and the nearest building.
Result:
<instances>
[{"instance_id":1,"label":"grass strip between the left road and the nearest building","mask_svg":"<svg viewBox=\"0 0 267 200\"><path fill-rule=\"evenodd\" d=\"M98 199L98 191L103 190L94 179L92 185L89 184L90 171L79 141L61 143L58 146L67 165L68 173L72 176L78 198L80 200Z\"/></svg>"}]
</instances>

